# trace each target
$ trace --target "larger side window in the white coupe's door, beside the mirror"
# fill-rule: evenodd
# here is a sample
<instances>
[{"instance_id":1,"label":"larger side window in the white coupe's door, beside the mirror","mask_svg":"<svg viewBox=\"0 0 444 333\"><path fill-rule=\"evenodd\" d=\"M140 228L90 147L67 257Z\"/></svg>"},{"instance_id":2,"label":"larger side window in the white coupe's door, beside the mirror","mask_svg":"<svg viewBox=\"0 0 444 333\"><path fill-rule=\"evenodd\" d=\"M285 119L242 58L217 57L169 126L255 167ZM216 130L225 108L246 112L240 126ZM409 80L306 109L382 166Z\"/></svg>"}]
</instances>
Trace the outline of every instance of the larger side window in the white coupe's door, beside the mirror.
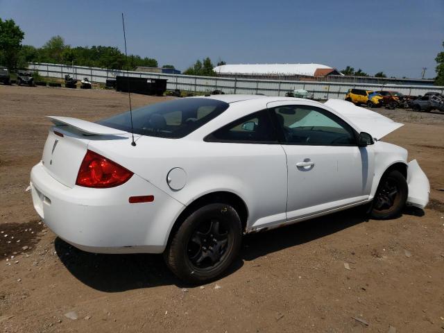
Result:
<instances>
[{"instance_id":1,"label":"larger side window in the white coupe's door, beside the mirror","mask_svg":"<svg viewBox=\"0 0 444 333\"><path fill-rule=\"evenodd\" d=\"M351 146L356 144L352 128L334 114L308 105L274 108L285 141L314 146Z\"/></svg>"}]
</instances>

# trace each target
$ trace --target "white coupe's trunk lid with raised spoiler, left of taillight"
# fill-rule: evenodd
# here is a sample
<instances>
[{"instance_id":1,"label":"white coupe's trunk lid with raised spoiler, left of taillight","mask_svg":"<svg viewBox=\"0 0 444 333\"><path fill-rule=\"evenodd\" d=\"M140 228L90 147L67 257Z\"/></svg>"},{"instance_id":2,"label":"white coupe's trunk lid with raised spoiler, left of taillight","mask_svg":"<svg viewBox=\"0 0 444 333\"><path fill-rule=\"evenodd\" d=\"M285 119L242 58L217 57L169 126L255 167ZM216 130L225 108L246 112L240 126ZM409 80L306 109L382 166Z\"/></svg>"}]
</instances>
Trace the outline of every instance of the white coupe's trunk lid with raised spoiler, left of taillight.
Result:
<instances>
[{"instance_id":1,"label":"white coupe's trunk lid with raised spoiler, left of taillight","mask_svg":"<svg viewBox=\"0 0 444 333\"><path fill-rule=\"evenodd\" d=\"M128 133L69 117L49 117L56 124L49 130L43 149L46 171L67 187L74 187L78 169L92 140L126 139Z\"/></svg>"}]
</instances>

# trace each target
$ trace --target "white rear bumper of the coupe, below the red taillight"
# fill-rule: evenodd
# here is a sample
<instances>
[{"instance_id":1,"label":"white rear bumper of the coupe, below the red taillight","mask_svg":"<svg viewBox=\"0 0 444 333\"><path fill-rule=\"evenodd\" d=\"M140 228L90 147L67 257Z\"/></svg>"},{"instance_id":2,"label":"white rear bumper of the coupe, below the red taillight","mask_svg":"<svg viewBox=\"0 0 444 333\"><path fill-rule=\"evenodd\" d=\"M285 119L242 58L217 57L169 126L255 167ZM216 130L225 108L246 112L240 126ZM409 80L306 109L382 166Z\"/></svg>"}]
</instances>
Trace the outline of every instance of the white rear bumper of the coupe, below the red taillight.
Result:
<instances>
[{"instance_id":1,"label":"white rear bumper of the coupe, below the red taillight","mask_svg":"<svg viewBox=\"0 0 444 333\"><path fill-rule=\"evenodd\" d=\"M31 171L33 204L61 239L95 253L162 253L183 205L143 178L110 189L62 185L42 163ZM130 204L130 196L155 197Z\"/></svg>"}]
</instances>

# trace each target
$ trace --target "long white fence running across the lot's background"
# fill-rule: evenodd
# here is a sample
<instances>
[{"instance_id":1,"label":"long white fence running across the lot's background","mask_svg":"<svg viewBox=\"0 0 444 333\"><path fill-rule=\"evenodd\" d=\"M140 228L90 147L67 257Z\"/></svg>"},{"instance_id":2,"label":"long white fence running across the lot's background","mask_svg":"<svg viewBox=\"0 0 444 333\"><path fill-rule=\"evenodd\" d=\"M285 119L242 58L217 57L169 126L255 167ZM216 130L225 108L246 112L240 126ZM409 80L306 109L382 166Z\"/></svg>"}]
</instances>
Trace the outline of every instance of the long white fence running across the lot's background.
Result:
<instances>
[{"instance_id":1,"label":"long white fence running across the lot's background","mask_svg":"<svg viewBox=\"0 0 444 333\"><path fill-rule=\"evenodd\" d=\"M76 79L84 77L92 82L105 83L107 78L126 76L126 71L98 67L67 66L46 63L30 63L29 69L39 71L41 76L64 78L66 74ZM208 76L189 76L175 74L144 73L130 71L130 76L139 78L166 78L167 89L180 89L189 92L212 92L221 90L225 94L264 94L284 96L293 89L305 89L314 93L314 99L343 99L350 88L368 90L396 90L407 95L423 95L426 92L441 92L444 87L419 85L375 85L370 83L337 83L320 81L257 80L247 78L219 78Z\"/></svg>"}]
</instances>

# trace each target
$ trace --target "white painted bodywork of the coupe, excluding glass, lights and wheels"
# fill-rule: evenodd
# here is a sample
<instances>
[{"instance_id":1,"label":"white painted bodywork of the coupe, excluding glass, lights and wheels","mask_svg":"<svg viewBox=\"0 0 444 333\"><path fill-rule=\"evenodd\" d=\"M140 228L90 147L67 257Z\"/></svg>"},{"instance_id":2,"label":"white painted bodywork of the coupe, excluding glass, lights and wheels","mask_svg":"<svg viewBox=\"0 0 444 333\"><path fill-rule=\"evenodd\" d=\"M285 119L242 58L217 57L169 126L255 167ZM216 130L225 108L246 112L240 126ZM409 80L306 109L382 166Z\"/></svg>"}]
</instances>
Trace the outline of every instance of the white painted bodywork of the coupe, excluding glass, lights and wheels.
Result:
<instances>
[{"instance_id":1,"label":"white painted bodywork of the coupe, excluding glass, lights and wheels","mask_svg":"<svg viewBox=\"0 0 444 333\"><path fill-rule=\"evenodd\" d=\"M404 148L381 141L366 147L205 142L204 137L225 124L276 105L323 108L358 133L366 131L377 139L402 126L343 101L322 104L257 95L207 98L230 107L186 137L136 135L137 146L130 146L130 133L51 117L56 127L49 130L42 161L31 171L35 210L53 232L83 250L162 253L180 213L205 194L228 191L239 196L248 210L245 232L252 232L368 203L388 167L407 166ZM87 149L109 157L134 176L109 189L76 185ZM416 162L409 164L408 172L408 201L425 207L427 177ZM129 196L144 195L155 200L128 203Z\"/></svg>"}]
</instances>

